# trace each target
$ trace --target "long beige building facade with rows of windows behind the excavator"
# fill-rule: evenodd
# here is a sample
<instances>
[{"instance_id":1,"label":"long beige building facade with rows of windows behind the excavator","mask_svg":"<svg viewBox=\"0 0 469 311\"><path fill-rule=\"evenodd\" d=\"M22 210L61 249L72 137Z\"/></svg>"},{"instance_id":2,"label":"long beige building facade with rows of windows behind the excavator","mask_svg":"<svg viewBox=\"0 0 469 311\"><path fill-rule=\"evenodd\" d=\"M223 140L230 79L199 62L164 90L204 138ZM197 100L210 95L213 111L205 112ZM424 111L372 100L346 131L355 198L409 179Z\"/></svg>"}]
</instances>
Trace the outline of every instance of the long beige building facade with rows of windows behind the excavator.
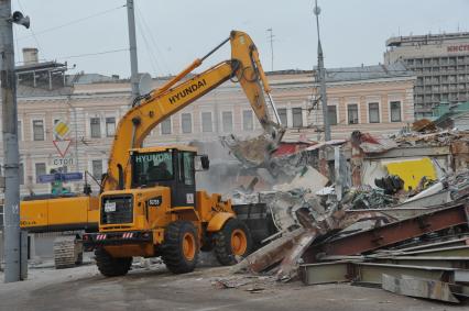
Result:
<instances>
[{"instance_id":1,"label":"long beige building facade with rows of windows behind the excavator","mask_svg":"<svg viewBox=\"0 0 469 311\"><path fill-rule=\"evenodd\" d=\"M337 78L338 71L329 74L327 91L332 138L347 138L355 130L390 134L413 121L415 77L361 74L362 79L358 79L349 73L345 76L347 80ZM282 123L287 127L285 141L321 140L323 133L317 131L323 126L321 110L315 104L317 88L313 73L272 73L269 79ZM164 80L153 82L156 88ZM87 170L99 179L107 170L116 125L129 108L128 81L75 79L73 87L41 92L31 86L20 86L21 193L50 192L51 185L39 182L39 176L61 167L68 173ZM69 147L64 156L54 145L54 141L59 141L54 126L61 121L68 126L64 140L69 141ZM242 89L226 82L157 125L144 144L212 142L231 133L249 137L261 132ZM83 181L67 186L72 191L79 191ZM97 191L97 186L94 189Z\"/></svg>"}]
</instances>

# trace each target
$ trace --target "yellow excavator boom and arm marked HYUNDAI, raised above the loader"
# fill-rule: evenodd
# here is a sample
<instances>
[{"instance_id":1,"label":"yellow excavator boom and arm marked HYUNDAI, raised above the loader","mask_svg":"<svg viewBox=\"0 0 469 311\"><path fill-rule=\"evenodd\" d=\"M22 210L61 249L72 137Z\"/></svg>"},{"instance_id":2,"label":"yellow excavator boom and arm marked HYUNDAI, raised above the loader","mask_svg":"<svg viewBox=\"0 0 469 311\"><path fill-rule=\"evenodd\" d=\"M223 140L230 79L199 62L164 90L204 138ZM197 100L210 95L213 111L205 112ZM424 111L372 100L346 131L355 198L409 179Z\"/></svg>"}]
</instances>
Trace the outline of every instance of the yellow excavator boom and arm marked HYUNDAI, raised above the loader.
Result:
<instances>
[{"instance_id":1,"label":"yellow excavator boom and arm marked HYUNDAI, raised above the loader","mask_svg":"<svg viewBox=\"0 0 469 311\"><path fill-rule=\"evenodd\" d=\"M230 60L219 63L183 81L205 58L218 49L220 44L201 59L196 59L166 85L151 91L140 104L122 116L116 130L108 173L102 180L103 191L130 188L129 149L141 147L144 138L157 124L231 78L241 84L264 131L275 138L279 124L272 122L269 116L264 91L269 95L270 87L255 45L248 34L238 31L232 31L229 40L223 43L228 41L231 44ZM271 103L273 105L273 102ZM273 109L275 111L274 105Z\"/></svg>"}]
</instances>

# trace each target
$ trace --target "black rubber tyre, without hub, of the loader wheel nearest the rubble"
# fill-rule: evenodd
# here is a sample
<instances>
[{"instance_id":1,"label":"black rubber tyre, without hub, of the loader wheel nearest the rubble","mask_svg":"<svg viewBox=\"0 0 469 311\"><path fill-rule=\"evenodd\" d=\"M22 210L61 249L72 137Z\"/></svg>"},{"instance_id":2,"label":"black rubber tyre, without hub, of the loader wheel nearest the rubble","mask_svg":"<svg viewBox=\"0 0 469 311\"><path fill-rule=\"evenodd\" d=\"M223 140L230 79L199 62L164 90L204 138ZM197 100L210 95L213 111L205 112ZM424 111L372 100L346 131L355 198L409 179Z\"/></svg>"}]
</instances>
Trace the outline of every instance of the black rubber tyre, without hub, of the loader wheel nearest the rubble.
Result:
<instances>
[{"instance_id":1,"label":"black rubber tyre, without hub, of the loader wheel nearest the rubble","mask_svg":"<svg viewBox=\"0 0 469 311\"><path fill-rule=\"evenodd\" d=\"M246 234L246 249L241 254L234 254L231 246L231 238L234 231L242 231ZM242 221L238 219L230 219L225 223L223 227L215 233L215 256L218 262L223 266L230 266L238 263L237 256L246 257L252 249L251 233Z\"/></svg>"}]
</instances>

